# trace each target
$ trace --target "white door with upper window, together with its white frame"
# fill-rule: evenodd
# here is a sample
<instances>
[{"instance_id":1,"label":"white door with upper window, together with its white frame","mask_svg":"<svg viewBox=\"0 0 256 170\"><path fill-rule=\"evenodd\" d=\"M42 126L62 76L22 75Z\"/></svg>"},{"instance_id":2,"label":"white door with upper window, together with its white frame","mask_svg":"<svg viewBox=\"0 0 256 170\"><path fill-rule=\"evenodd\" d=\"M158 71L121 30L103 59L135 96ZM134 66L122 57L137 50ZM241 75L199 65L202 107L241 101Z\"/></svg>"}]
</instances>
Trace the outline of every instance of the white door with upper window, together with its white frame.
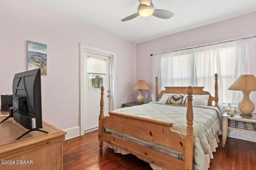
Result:
<instances>
[{"instance_id":1,"label":"white door with upper window, together with its white frame","mask_svg":"<svg viewBox=\"0 0 256 170\"><path fill-rule=\"evenodd\" d=\"M80 135L98 128L102 85L104 114L115 108L115 56L112 51L80 44Z\"/></svg>"}]
</instances>

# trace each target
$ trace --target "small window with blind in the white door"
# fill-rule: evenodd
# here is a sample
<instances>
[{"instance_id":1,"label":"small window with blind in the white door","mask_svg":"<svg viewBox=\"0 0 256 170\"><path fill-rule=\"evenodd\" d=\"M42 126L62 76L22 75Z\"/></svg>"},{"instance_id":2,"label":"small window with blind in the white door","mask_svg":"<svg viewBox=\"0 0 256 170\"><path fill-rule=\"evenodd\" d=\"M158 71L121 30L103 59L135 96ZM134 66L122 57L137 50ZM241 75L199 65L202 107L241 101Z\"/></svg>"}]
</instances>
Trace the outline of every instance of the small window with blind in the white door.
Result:
<instances>
[{"instance_id":1,"label":"small window with blind in the white door","mask_svg":"<svg viewBox=\"0 0 256 170\"><path fill-rule=\"evenodd\" d=\"M106 59L89 57L89 90L100 90L105 85Z\"/></svg>"}]
</instances>

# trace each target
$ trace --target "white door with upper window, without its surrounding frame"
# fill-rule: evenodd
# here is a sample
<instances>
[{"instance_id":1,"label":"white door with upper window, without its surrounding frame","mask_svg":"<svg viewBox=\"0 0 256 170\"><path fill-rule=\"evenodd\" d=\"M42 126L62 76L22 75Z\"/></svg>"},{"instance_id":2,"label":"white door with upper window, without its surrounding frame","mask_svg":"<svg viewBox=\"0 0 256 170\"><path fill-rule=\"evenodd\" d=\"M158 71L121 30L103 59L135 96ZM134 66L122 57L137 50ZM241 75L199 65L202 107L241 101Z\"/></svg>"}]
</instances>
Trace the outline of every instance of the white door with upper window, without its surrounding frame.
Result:
<instances>
[{"instance_id":1,"label":"white door with upper window, without its surrounding frame","mask_svg":"<svg viewBox=\"0 0 256 170\"><path fill-rule=\"evenodd\" d=\"M104 109L110 107L110 57L84 52L84 131L98 127L100 88L104 86Z\"/></svg>"}]
</instances>

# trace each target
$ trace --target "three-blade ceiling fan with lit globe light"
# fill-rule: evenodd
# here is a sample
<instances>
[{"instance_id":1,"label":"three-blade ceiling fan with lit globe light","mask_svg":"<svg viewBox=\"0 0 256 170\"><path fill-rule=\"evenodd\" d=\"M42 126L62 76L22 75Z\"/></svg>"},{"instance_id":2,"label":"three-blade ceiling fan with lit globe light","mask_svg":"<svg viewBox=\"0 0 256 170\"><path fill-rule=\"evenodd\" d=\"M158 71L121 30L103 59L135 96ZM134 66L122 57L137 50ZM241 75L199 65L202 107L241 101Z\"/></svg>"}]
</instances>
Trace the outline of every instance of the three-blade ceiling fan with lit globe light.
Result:
<instances>
[{"instance_id":1,"label":"three-blade ceiling fan with lit globe light","mask_svg":"<svg viewBox=\"0 0 256 170\"><path fill-rule=\"evenodd\" d=\"M140 5L138 6L138 12L135 14L132 14L126 18L123 18L121 21L128 21L128 20L132 20L133 18L137 17L137 16L143 16L143 17L147 17L147 16L155 16L158 18L162 18L162 19L169 19L172 16L174 16L174 14L170 11L166 11L166 10L155 10L154 5L152 4L151 0L139 0L140 1Z\"/></svg>"}]
</instances>

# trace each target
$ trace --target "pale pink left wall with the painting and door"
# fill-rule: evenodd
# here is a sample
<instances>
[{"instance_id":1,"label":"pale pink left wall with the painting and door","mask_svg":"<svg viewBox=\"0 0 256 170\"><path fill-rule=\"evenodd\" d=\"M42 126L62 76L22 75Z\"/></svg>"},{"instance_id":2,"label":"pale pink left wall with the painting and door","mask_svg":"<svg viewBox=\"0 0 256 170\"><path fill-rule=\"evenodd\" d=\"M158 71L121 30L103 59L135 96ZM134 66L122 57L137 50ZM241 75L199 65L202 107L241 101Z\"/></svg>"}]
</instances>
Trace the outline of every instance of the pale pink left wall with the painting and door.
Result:
<instances>
[{"instance_id":1,"label":"pale pink left wall with the painting and door","mask_svg":"<svg viewBox=\"0 0 256 170\"><path fill-rule=\"evenodd\" d=\"M44 121L60 129L79 125L79 43L116 52L117 107L133 100L136 45L27 0L0 1L0 94L12 94L14 74L27 70L27 40L47 45Z\"/></svg>"}]
</instances>

